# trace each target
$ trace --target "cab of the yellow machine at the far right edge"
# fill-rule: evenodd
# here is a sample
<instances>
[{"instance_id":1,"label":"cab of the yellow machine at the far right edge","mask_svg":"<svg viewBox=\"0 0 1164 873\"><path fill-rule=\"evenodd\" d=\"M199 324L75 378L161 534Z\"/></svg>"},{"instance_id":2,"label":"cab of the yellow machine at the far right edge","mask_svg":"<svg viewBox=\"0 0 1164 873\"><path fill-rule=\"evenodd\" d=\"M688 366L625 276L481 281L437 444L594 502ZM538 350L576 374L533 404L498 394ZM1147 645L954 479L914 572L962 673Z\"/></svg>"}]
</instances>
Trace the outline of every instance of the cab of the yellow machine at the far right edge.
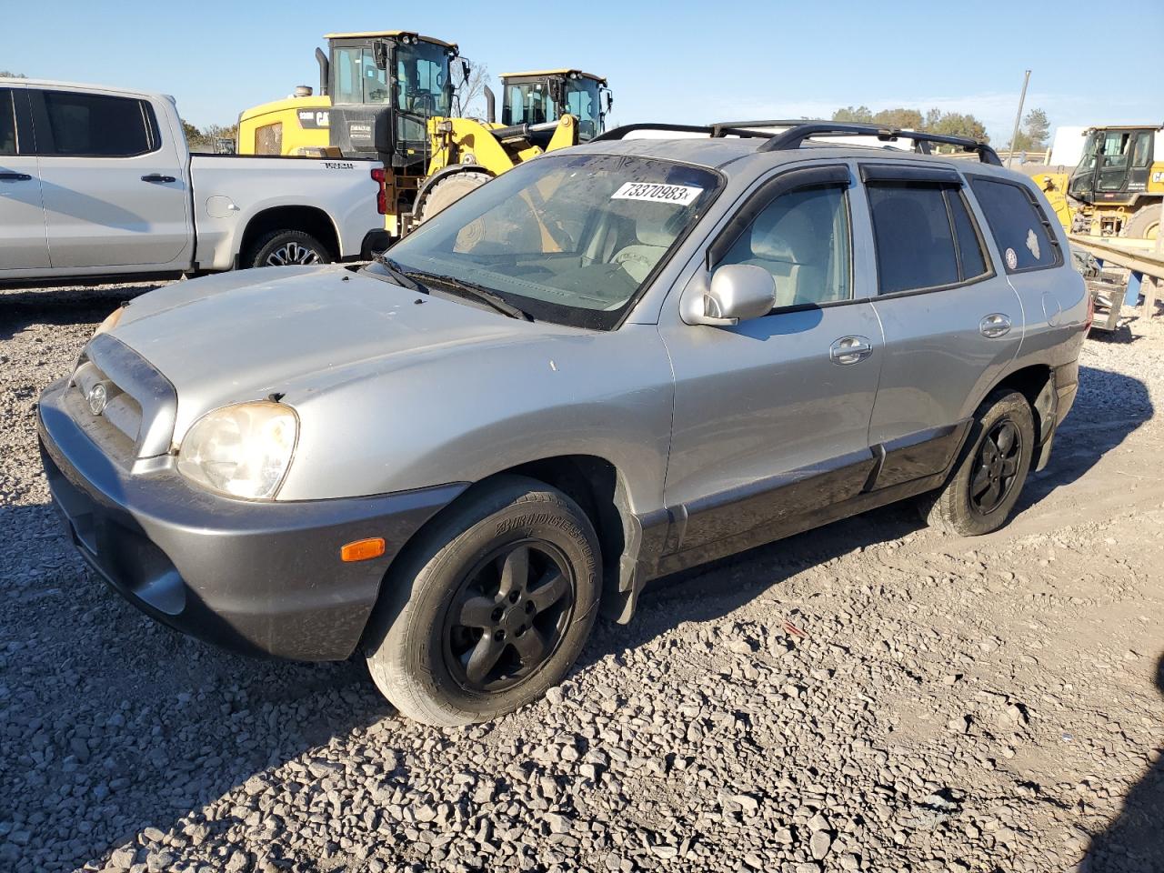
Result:
<instances>
[{"instance_id":1,"label":"cab of the yellow machine at the far right edge","mask_svg":"<svg viewBox=\"0 0 1164 873\"><path fill-rule=\"evenodd\" d=\"M1086 204L1129 204L1148 190L1152 162L1164 158L1164 128L1093 127L1067 193Z\"/></svg>"}]
</instances>

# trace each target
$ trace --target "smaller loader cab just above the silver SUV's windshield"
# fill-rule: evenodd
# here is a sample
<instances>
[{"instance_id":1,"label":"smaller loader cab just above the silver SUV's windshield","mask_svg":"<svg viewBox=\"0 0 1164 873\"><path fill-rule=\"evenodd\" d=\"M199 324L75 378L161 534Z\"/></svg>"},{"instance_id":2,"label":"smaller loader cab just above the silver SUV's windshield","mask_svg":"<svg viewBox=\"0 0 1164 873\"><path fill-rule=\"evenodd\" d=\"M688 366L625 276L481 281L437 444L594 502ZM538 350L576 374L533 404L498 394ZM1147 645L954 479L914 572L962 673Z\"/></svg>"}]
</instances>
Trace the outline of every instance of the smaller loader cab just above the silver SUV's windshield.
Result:
<instances>
[{"instance_id":1,"label":"smaller loader cab just above the silver SUV's windshield","mask_svg":"<svg viewBox=\"0 0 1164 873\"><path fill-rule=\"evenodd\" d=\"M579 120L579 142L605 130L613 97L601 76L581 70L502 74L502 123L541 125L562 115Z\"/></svg>"}]
</instances>

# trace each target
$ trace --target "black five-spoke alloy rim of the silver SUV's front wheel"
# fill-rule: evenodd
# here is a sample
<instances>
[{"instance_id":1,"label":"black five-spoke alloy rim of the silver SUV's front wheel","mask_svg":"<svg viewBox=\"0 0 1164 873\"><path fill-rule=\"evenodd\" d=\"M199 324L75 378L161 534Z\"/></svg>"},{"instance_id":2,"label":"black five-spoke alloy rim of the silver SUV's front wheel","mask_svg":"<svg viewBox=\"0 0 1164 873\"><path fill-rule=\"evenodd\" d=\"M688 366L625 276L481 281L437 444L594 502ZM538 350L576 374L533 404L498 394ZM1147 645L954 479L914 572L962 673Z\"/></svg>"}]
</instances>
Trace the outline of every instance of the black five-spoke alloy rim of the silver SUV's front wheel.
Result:
<instances>
[{"instance_id":1,"label":"black five-spoke alloy rim of the silver SUV's front wheel","mask_svg":"<svg viewBox=\"0 0 1164 873\"><path fill-rule=\"evenodd\" d=\"M558 650L574 612L566 555L539 540L508 542L461 581L445 618L445 665L464 690L502 691Z\"/></svg>"}]
</instances>

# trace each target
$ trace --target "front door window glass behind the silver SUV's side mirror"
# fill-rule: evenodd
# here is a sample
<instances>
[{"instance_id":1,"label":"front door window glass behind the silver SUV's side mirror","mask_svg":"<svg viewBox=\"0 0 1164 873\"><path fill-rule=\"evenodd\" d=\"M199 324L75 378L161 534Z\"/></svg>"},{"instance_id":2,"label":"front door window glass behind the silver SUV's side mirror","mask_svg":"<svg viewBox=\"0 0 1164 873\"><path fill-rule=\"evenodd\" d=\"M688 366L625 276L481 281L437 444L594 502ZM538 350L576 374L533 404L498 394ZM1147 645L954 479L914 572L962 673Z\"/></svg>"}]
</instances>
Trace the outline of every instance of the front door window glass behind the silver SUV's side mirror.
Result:
<instances>
[{"instance_id":1,"label":"front door window glass behind the silver SUV's side mirror","mask_svg":"<svg viewBox=\"0 0 1164 873\"><path fill-rule=\"evenodd\" d=\"M849 206L840 185L778 197L717 267L751 264L776 282L775 307L847 300Z\"/></svg>"}]
</instances>

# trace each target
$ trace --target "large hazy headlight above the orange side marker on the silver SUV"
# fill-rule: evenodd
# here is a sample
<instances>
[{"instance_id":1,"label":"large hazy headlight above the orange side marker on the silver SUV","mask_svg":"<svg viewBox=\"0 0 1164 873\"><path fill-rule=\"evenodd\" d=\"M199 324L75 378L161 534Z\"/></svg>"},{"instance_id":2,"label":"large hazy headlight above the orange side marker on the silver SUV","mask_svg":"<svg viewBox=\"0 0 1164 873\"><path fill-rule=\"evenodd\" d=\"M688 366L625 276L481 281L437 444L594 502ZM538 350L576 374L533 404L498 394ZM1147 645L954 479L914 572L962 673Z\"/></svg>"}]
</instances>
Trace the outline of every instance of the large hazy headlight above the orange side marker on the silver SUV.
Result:
<instances>
[{"instance_id":1,"label":"large hazy headlight above the orange side marker on the silver SUV","mask_svg":"<svg viewBox=\"0 0 1164 873\"><path fill-rule=\"evenodd\" d=\"M299 418L282 403L223 406L186 431L178 473L234 497L274 499L291 467L298 435Z\"/></svg>"}]
</instances>

